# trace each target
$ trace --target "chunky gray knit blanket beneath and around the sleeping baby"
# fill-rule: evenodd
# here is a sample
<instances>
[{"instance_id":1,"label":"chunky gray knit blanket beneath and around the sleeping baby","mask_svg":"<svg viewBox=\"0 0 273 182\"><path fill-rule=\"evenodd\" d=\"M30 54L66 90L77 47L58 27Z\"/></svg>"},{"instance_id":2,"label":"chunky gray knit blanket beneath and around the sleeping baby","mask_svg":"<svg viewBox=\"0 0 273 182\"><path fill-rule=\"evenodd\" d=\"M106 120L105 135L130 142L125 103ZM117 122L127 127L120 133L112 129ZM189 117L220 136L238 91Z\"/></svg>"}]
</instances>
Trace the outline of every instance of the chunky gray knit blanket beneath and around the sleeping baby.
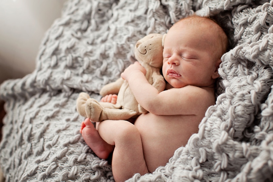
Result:
<instances>
[{"instance_id":1,"label":"chunky gray knit blanket beneath and around the sleeping baby","mask_svg":"<svg viewBox=\"0 0 273 182\"><path fill-rule=\"evenodd\" d=\"M273 181L273 1L264 0L68 0L35 71L1 85L6 181L113 181L110 163L79 133L76 98L100 99L134 61L138 39L194 12L219 20L231 43L216 104L166 166L128 181Z\"/></svg>"}]
</instances>

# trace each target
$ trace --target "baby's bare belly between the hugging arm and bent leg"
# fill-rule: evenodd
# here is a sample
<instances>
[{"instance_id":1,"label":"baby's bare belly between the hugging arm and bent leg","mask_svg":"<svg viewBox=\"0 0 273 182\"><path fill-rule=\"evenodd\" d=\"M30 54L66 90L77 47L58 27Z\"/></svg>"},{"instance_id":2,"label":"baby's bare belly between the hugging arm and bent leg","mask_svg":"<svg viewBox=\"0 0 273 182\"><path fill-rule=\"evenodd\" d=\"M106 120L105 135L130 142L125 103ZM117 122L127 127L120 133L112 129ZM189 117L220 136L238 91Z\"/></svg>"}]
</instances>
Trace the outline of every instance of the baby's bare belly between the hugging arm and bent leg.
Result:
<instances>
[{"instance_id":1,"label":"baby's bare belly between the hugging arm and bent leg","mask_svg":"<svg viewBox=\"0 0 273 182\"><path fill-rule=\"evenodd\" d=\"M148 170L153 172L157 167L165 166L174 151L185 146L190 136L198 132L201 119L195 115L140 115L135 126L140 132Z\"/></svg>"}]
</instances>

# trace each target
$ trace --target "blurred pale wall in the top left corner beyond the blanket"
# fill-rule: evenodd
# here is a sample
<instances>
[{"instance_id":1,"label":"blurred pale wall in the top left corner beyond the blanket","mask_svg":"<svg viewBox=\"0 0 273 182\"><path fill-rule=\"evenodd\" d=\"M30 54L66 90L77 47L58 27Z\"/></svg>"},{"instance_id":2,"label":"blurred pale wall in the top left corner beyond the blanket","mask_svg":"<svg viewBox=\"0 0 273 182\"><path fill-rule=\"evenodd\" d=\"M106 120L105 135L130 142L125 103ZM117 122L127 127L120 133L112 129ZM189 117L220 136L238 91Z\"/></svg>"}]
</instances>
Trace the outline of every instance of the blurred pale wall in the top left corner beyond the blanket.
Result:
<instances>
[{"instance_id":1,"label":"blurred pale wall in the top left corner beyond the blanket","mask_svg":"<svg viewBox=\"0 0 273 182\"><path fill-rule=\"evenodd\" d=\"M42 37L66 0L0 0L0 83L35 69Z\"/></svg>"}]
</instances>

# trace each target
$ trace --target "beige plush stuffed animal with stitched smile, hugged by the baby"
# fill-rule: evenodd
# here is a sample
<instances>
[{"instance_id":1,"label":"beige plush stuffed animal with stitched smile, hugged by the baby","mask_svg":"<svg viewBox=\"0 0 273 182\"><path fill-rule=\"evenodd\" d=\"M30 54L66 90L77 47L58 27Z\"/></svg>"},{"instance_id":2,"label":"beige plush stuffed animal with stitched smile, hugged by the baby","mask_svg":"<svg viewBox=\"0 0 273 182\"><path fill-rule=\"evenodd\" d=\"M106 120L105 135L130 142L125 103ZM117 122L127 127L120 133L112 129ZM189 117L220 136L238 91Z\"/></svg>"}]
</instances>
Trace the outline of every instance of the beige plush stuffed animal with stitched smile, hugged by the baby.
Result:
<instances>
[{"instance_id":1,"label":"beige plush stuffed animal with stitched smile, hugged by the baby","mask_svg":"<svg viewBox=\"0 0 273 182\"><path fill-rule=\"evenodd\" d=\"M165 80L160 74L163 64L162 39L163 35L152 33L138 40L134 48L136 60L147 71L145 76L148 82L159 92L165 89ZM147 110L137 103L128 82L121 77L115 82L105 85L100 90L100 95L105 96L108 94L117 94L116 104L98 102L96 99L90 98L87 93L80 93L76 104L78 113L88 117L93 122L127 120L141 113L147 113Z\"/></svg>"}]
</instances>

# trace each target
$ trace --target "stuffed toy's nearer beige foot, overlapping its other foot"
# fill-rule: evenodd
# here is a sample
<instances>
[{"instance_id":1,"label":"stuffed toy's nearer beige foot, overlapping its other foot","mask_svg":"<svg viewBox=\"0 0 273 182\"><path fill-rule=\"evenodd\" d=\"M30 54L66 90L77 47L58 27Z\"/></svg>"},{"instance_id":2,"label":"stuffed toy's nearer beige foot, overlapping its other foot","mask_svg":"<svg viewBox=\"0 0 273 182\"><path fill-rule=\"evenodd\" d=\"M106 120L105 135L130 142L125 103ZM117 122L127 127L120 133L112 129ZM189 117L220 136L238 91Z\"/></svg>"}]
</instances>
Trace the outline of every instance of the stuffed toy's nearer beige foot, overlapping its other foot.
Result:
<instances>
[{"instance_id":1,"label":"stuffed toy's nearer beige foot, overlapping its other foot","mask_svg":"<svg viewBox=\"0 0 273 182\"><path fill-rule=\"evenodd\" d=\"M100 122L99 118L101 116L103 107L99 104L96 99L89 98L85 104L86 116L93 122Z\"/></svg>"}]
</instances>

